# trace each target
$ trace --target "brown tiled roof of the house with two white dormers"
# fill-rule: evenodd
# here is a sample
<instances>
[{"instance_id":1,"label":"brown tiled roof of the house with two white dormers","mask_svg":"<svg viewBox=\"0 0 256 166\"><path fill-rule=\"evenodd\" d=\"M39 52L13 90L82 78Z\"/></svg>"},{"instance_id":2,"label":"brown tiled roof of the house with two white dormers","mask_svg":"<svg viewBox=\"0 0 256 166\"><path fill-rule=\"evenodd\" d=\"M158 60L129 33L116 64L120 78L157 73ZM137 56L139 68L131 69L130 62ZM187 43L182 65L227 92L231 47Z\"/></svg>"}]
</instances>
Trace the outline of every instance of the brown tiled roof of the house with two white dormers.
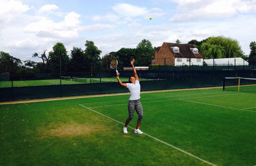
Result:
<instances>
[{"instance_id":1,"label":"brown tiled roof of the house with two white dormers","mask_svg":"<svg viewBox=\"0 0 256 166\"><path fill-rule=\"evenodd\" d=\"M198 50L198 53L193 53L191 48L196 48L193 44L177 44L177 43L167 43L163 44L167 45L170 51L173 53L175 58L204 58L201 52ZM180 49L179 52L174 52L171 47L178 47Z\"/></svg>"}]
</instances>

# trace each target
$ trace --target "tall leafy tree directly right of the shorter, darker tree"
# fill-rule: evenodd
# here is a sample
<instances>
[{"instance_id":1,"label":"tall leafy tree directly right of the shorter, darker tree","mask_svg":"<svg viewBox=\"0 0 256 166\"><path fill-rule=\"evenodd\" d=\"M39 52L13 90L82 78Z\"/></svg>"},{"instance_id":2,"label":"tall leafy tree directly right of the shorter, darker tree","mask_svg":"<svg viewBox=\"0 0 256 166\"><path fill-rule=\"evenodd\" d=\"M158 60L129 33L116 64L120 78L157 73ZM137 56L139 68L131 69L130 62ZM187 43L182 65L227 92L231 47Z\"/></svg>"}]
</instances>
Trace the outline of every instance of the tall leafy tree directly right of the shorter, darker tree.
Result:
<instances>
[{"instance_id":1,"label":"tall leafy tree directly right of the shorter, darker tree","mask_svg":"<svg viewBox=\"0 0 256 166\"><path fill-rule=\"evenodd\" d=\"M101 50L99 50L93 41L86 40L85 42L85 59L87 70L92 69L93 71L99 71L99 60L101 55Z\"/></svg>"}]
</instances>

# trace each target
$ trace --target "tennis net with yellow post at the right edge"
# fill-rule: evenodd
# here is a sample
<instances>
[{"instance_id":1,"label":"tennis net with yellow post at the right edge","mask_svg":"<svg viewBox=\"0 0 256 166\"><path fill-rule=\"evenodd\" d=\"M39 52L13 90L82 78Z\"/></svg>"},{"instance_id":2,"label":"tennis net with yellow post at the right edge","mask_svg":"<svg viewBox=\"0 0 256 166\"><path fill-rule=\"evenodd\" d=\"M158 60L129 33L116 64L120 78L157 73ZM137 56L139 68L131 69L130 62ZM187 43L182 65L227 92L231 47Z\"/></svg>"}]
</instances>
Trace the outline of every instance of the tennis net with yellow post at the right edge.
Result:
<instances>
[{"instance_id":1,"label":"tennis net with yellow post at the right edge","mask_svg":"<svg viewBox=\"0 0 256 166\"><path fill-rule=\"evenodd\" d=\"M256 79L242 77L223 78L223 90L256 93Z\"/></svg>"}]
</instances>

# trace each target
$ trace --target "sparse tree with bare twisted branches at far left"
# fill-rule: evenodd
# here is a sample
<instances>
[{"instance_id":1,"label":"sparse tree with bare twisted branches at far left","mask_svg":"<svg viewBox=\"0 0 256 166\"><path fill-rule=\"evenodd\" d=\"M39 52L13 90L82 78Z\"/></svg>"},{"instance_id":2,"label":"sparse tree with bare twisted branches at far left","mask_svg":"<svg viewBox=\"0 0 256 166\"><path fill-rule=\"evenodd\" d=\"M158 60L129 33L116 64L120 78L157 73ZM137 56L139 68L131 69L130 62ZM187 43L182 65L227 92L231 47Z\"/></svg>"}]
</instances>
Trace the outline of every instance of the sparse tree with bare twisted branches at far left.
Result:
<instances>
[{"instance_id":1,"label":"sparse tree with bare twisted branches at far left","mask_svg":"<svg viewBox=\"0 0 256 166\"><path fill-rule=\"evenodd\" d=\"M38 57L42 59L42 62L35 62L32 60L25 60L25 65L29 66L29 67L33 67L33 68L37 68L40 70L41 73L49 73L50 71L50 61L49 61L49 57L46 56L45 52L47 51L47 49L43 50L43 53L41 54L41 56L38 55L38 53L34 53L32 55L32 57Z\"/></svg>"}]
</instances>

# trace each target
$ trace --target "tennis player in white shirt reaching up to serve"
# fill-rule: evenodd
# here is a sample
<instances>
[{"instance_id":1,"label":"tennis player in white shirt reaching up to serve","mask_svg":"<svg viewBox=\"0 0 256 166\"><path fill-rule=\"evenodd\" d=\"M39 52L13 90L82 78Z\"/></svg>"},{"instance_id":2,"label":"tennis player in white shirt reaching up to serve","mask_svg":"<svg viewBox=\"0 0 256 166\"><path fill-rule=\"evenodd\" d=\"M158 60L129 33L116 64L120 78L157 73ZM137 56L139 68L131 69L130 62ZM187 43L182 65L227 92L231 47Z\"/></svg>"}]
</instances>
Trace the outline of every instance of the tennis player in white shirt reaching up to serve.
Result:
<instances>
[{"instance_id":1,"label":"tennis player in white shirt reaching up to serve","mask_svg":"<svg viewBox=\"0 0 256 166\"><path fill-rule=\"evenodd\" d=\"M134 115L134 110L137 112L138 114L138 120L137 120L137 126L136 129L134 130L135 133L137 134L143 134L142 131L140 131L140 125L141 125L141 121L143 118L143 109L141 106L141 102L140 102L140 93L141 93L141 86L140 86L140 80L139 77L137 75L137 72L134 68L134 59L131 60L131 65L132 65L132 70L134 72L134 77L130 77L129 78L129 83L122 83L121 80L119 79L119 73L116 73L116 78L118 80L118 83L123 86L123 87L127 87L131 93L131 96L129 98L129 103L128 103L128 113L129 113L129 117L127 118L127 120L125 121L125 125L123 128L123 132L125 134L127 134L127 125L129 124L129 122L132 120L133 115Z\"/></svg>"}]
</instances>

